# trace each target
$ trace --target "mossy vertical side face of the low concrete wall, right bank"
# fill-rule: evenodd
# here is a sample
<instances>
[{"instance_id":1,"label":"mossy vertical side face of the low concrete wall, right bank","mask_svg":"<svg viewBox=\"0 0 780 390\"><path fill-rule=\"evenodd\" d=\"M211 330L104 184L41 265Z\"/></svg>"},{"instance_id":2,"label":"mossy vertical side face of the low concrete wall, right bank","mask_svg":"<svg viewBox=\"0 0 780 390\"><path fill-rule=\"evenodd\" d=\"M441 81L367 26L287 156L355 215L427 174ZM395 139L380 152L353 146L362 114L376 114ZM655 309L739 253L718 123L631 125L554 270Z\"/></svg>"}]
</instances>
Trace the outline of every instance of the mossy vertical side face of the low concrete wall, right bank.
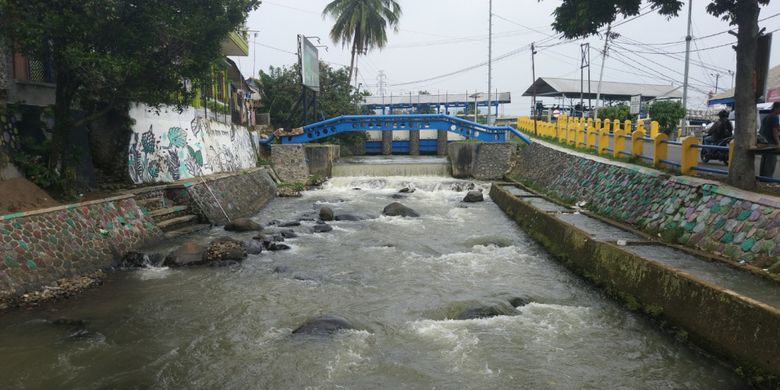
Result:
<instances>
[{"instance_id":1,"label":"mossy vertical side face of the low concrete wall, right bank","mask_svg":"<svg viewBox=\"0 0 780 390\"><path fill-rule=\"evenodd\" d=\"M688 332L746 373L780 375L780 310L594 239L494 185L494 202L569 268Z\"/></svg>"}]
</instances>

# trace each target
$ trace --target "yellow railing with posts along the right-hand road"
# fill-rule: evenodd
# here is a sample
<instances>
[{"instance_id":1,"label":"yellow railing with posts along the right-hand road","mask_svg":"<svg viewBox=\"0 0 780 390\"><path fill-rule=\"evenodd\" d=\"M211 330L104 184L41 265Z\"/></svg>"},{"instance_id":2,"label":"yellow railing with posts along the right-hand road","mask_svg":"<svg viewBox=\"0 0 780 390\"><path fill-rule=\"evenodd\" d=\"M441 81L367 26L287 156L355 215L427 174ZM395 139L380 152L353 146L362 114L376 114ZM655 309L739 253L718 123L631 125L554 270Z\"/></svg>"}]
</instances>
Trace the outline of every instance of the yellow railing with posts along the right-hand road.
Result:
<instances>
[{"instance_id":1,"label":"yellow railing with posts along the right-hand road","mask_svg":"<svg viewBox=\"0 0 780 390\"><path fill-rule=\"evenodd\" d=\"M704 149L728 152L728 163L734 151L734 141L729 146L703 145L701 139L694 136L669 140L669 136L659 131L658 122L648 126L644 121L593 120L592 118L558 117L554 123L534 120L529 117L517 119L517 129L525 134L551 140L597 155L615 159L635 159L659 169L677 171L683 175L696 175L704 172L715 175L728 175L723 169L700 166L699 155ZM647 132L649 130L649 137ZM670 150L675 153L670 154ZM670 156L674 156L670 158ZM770 178L759 178L768 181Z\"/></svg>"}]
</instances>

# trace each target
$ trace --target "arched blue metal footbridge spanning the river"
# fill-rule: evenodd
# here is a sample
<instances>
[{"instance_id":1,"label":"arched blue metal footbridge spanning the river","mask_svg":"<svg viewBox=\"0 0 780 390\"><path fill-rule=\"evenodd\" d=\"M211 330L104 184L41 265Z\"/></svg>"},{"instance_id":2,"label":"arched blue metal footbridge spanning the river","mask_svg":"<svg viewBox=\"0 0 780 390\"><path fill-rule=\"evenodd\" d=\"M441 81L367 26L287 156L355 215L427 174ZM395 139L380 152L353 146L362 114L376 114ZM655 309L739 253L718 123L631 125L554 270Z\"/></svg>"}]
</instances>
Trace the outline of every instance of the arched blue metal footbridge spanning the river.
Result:
<instances>
[{"instance_id":1,"label":"arched blue metal footbridge spanning the river","mask_svg":"<svg viewBox=\"0 0 780 390\"><path fill-rule=\"evenodd\" d=\"M531 143L528 137L512 127L488 126L444 114L343 115L306 125L302 134L284 135L279 141L282 144L301 144L350 131L404 130L445 130L466 139L485 142L507 142L508 133L511 133Z\"/></svg>"}]
</instances>

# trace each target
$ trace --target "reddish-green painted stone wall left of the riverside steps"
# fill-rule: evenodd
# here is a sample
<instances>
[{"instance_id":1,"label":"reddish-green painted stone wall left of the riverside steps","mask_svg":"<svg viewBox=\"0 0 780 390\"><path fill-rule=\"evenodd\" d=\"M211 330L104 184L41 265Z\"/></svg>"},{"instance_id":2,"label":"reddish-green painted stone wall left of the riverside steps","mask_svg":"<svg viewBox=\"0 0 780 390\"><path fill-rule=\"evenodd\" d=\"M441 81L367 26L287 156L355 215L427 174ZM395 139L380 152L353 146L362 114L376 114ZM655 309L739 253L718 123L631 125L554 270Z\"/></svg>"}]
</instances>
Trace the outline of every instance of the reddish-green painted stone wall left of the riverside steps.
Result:
<instances>
[{"instance_id":1,"label":"reddish-green painted stone wall left of the riverside steps","mask_svg":"<svg viewBox=\"0 0 780 390\"><path fill-rule=\"evenodd\" d=\"M132 195L0 216L0 302L161 238Z\"/></svg>"}]
</instances>

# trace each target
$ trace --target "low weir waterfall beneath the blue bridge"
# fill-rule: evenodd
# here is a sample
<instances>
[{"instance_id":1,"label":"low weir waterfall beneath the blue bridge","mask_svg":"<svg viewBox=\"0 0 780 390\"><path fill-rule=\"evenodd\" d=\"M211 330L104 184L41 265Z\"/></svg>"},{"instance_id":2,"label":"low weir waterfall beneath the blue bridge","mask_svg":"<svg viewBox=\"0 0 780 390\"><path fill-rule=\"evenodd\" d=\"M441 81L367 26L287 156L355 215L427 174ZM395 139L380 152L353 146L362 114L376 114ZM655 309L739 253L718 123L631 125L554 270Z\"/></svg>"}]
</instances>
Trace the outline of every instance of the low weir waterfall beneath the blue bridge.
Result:
<instances>
[{"instance_id":1,"label":"low weir waterfall beneath the blue bridge","mask_svg":"<svg viewBox=\"0 0 780 390\"><path fill-rule=\"evenodd\" d=\"M450 177L449 163L436 157L354 157L333 166L334 177Z\"/></svg>"}]
</instances>

